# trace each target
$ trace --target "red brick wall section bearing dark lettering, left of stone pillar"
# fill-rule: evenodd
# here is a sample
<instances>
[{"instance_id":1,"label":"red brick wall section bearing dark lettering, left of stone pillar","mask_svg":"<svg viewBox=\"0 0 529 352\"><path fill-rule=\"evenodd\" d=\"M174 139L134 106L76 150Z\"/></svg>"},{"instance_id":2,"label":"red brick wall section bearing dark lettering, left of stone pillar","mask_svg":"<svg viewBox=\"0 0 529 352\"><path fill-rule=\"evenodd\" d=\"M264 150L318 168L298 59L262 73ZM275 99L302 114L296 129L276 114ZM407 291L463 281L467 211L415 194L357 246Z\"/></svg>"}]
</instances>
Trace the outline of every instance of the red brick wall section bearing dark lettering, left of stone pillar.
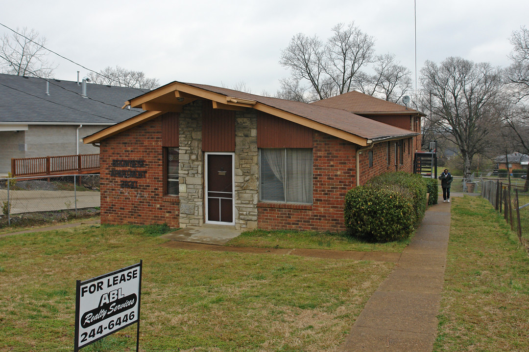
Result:
<instances>
[{"instance_id":1,"label":"red brick wall section bearing dark lettering, left of stone pillar","mask_svg":"<svg viewBox=\"0 0 529 352\"><path fill-rule=\"evenodd\" d=\"M163 197L161 118L156 118L101 142L101 222L163 224L178 227L178 197ZM112 167L112 160L145 160L144 168ZM145 178L111 177L114 170L147 171ZM121 180L138 188L121 188Z\"/></svg>"}]
</instances>

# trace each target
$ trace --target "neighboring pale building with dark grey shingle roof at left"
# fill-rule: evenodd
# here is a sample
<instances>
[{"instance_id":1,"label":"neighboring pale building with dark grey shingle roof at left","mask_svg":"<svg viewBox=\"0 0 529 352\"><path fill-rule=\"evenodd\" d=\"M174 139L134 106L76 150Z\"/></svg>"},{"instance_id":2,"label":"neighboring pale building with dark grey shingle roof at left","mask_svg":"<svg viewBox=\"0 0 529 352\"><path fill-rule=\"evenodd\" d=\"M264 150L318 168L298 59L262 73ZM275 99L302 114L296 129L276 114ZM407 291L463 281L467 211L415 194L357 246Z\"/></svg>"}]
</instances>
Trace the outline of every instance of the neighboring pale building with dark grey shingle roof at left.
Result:
<instances>
[{"instance_id":1,"label":"neighboring pale building with dark grey shingle roof at left","mask_svg":"<svg viewBox=\"0 0 529 352\"><path fill-rule=\"evenodd\" d=\"M99 153L79 138L138 115L121 106L147 91L0 74L0 175L11 158Z\"/></svg>"}]
</instances>

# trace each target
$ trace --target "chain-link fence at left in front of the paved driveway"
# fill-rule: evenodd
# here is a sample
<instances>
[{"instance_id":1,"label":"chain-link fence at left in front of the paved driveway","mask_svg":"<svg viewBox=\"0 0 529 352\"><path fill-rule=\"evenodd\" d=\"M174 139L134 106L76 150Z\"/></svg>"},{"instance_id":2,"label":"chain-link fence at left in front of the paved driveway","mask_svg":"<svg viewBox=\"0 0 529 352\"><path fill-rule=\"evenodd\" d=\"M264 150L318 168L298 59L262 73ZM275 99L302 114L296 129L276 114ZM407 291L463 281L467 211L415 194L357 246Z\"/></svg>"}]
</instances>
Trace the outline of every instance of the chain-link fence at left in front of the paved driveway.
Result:
<instances>
[{"instance_id":1,"label":"chain-link fence at left in front of the paved driveway","mask_svg":"<svg viewBox=\"0 0 529 352\"><path fill-rule=\"evenodd\" d=\"M2 217L99 207L99 175L0 178Z\"/></svg>"}]
</instances>

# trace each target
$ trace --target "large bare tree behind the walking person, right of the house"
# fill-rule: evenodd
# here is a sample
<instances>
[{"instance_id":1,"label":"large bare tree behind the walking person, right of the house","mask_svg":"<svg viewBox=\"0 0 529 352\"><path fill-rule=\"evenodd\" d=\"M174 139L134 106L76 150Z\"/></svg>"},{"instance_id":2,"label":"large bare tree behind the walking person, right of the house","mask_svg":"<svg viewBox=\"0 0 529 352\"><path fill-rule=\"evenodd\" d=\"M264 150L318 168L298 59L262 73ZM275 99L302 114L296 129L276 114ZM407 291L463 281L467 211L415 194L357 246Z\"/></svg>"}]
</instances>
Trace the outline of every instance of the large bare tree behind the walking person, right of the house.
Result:
<instances>
[{"instance_id":1,"label":"large bare tree behind the walking person, right of the house","mask_svg":"<svg viewBox=\"0 0 529 352\"><path fill-rule=\"evenodd\" d=\"M502 89L500 69L451 57L421 69L423 96L431 96L428 118L435 130L458 146L463 173L470 177L475 154L486 149L487 136L501 120L494 109Z\"/></svg>"}]
</instances>

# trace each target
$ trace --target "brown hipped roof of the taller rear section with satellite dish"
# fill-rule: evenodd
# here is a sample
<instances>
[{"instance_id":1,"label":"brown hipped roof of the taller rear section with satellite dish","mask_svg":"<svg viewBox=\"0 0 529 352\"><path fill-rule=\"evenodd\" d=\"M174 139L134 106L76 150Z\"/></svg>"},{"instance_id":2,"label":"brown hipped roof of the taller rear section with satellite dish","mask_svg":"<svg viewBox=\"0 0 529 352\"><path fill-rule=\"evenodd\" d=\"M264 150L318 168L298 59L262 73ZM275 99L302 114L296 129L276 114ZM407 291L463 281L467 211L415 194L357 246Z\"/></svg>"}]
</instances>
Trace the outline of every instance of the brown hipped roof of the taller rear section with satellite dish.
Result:
<instances>
[{"instance_id":1,"label":"brown hipped roof of the taller rear section with satellite dish","mask_svg":"<svg viewBox=\"0 0 529 352\"><path fill-rule=\"evenodd\" d=\"M378 99L357 91L341 94L340 96L318 100L313 103L317 106L347 110L362 115L382 115L388 113L420 113L419 111L406 108L400 104L387 100ZM421 113L421 116L424 116Z\"/></svg>"}]
</instances>

